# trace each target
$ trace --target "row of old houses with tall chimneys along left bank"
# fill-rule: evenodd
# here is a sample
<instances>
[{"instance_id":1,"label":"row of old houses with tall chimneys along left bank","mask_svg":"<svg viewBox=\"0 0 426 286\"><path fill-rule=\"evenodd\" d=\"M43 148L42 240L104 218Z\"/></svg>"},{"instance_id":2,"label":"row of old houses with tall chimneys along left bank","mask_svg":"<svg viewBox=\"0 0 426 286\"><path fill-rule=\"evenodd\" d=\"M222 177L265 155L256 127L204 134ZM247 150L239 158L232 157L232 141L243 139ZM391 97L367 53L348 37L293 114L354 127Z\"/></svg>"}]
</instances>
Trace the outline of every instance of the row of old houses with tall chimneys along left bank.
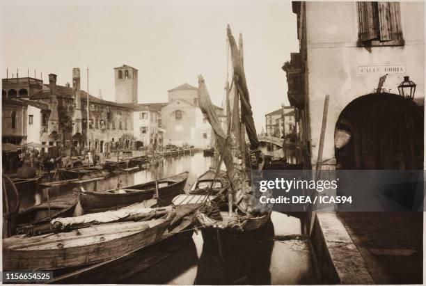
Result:
<instances>
[{"instance_id":1,"label":"row of old houses with tall chimneys along left bank","mask_svg":"<svg viewBox=\"0 0 426 286\"><path fill-rule=\"evenodd\" d=\"M57 85L56 74L49 74L49 84L31 78L3 79L3 142L88 147L97 152L132 148L133 109L80 90L79 69L73 70L72 79L72 88ZM26 93L19 95L23 89ZM40 130L29 132L30 122L40 122Z\"/></svg>"}]
</instances>

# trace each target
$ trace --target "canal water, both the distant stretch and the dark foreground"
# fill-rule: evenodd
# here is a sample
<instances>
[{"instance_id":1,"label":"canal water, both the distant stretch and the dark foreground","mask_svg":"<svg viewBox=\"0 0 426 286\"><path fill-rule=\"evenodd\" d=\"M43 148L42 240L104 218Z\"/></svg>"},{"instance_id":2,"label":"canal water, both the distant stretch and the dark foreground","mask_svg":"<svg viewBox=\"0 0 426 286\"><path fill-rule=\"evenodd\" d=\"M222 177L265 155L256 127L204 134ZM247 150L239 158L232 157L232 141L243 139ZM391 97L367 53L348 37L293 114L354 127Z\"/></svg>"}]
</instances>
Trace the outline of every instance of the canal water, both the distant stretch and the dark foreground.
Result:
<instances>
[{"instance_id":1,"label":"canal water, both the distant stretch and the dark foreground","mask_svg":"<svg viewBox=\"0 0 426 286\"><path fill-rule=\"evenodd\" d=\"M121 186L141 184L158 178L189 171L187 191L196 177L214 165L214 157L204 157L202 152L161 159L159 166L136 173L125 173L105 180L79 186L63 186L44 190L28 190L21 193L21 208L47 200L49 197L77 196L79 188L102 191ZM77 209L77 212L81 210ZM203 245L200 232L172 255L153 267L128 278L128 284L178 284L178 285L288 285L319 284L313 252L304 230L303 216L290 216L273 212L271 223L265 228L267 239L251 241L244 251L228 257L225 261ZM105 276L107 283L108 273ZM82 281L84 283L84 281Z\"/></svg>"}]
</instances>

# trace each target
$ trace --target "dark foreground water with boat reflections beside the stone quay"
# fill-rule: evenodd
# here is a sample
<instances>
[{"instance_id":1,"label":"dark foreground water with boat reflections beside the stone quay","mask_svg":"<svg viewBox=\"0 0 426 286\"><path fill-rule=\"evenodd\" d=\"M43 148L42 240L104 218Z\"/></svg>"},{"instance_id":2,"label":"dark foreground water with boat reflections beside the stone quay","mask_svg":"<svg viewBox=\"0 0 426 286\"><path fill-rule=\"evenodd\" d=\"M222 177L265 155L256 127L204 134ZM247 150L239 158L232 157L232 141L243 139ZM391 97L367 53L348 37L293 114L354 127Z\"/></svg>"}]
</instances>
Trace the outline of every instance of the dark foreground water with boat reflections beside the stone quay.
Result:
<instances>
[{"instance_id":1,"label":"dark foreground water with boat reflections beside the stone quay","mask_svg":"<svg viewBox=\"0 0 426 286\"><path fill-rule=\"evenodd\" d=\"M301 214L298 215L301 217ZM303 235L304 219L273 212L257 239L220 260L203 245L200 233L189 244L123 283L173 285L319 284L308 240L278 238ZM276 237L276 239L274 239ZM279 240L282 239L282 240Z\"/></svg>"}]
</instances>

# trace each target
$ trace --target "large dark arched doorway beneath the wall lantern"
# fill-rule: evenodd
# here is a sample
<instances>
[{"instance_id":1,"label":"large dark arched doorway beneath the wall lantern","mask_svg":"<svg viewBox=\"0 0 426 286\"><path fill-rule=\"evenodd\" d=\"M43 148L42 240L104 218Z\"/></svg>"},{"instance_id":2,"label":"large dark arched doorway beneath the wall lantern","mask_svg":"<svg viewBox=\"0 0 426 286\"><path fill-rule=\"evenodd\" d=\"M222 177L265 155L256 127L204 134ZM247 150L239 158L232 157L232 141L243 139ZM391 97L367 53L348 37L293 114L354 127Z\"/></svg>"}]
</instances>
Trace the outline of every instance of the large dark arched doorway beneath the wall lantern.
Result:
<instances>
[{"instance_id":1,"label":"large dark arched doorway beneath the wall lantern","mask_svg":"<svg viewBox=\"0 0 426 286\"><path fill-rule=\"evenodd\" d=\"M423 169L423 109L391 93L358 97L336 123L337 168Z\"/></svg>"}]
</instances>

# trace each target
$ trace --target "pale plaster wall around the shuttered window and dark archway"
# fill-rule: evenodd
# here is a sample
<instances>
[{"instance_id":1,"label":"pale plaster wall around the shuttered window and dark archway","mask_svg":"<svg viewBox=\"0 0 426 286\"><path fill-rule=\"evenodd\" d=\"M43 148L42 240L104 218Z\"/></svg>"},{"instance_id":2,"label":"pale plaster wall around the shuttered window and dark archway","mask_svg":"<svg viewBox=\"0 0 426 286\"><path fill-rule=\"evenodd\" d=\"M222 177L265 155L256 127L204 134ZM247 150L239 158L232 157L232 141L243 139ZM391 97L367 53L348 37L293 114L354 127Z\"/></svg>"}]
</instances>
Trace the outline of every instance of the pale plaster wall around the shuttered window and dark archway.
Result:
<instances>
[{"instance_id":1,"label":"pale plaster wall around the shuttered window and dark archway","mask_svg":"<svg viewBox=\"0 0 426 286\"><path fill-rule=\"evenodd\" d=\"M323 160L334 159L334 128L340 112L357 97L372 93L383 72L360 72L361 66L402 65L403 73L389 73L384 84L396 93L404 75L417 84L416 97L424 97L423 3L400 4L405 45L357 47L358 14L354 2L306 2L308 82L312 163L322 123L324 97L330 95Z\"/></svg>"}]
</instances>

